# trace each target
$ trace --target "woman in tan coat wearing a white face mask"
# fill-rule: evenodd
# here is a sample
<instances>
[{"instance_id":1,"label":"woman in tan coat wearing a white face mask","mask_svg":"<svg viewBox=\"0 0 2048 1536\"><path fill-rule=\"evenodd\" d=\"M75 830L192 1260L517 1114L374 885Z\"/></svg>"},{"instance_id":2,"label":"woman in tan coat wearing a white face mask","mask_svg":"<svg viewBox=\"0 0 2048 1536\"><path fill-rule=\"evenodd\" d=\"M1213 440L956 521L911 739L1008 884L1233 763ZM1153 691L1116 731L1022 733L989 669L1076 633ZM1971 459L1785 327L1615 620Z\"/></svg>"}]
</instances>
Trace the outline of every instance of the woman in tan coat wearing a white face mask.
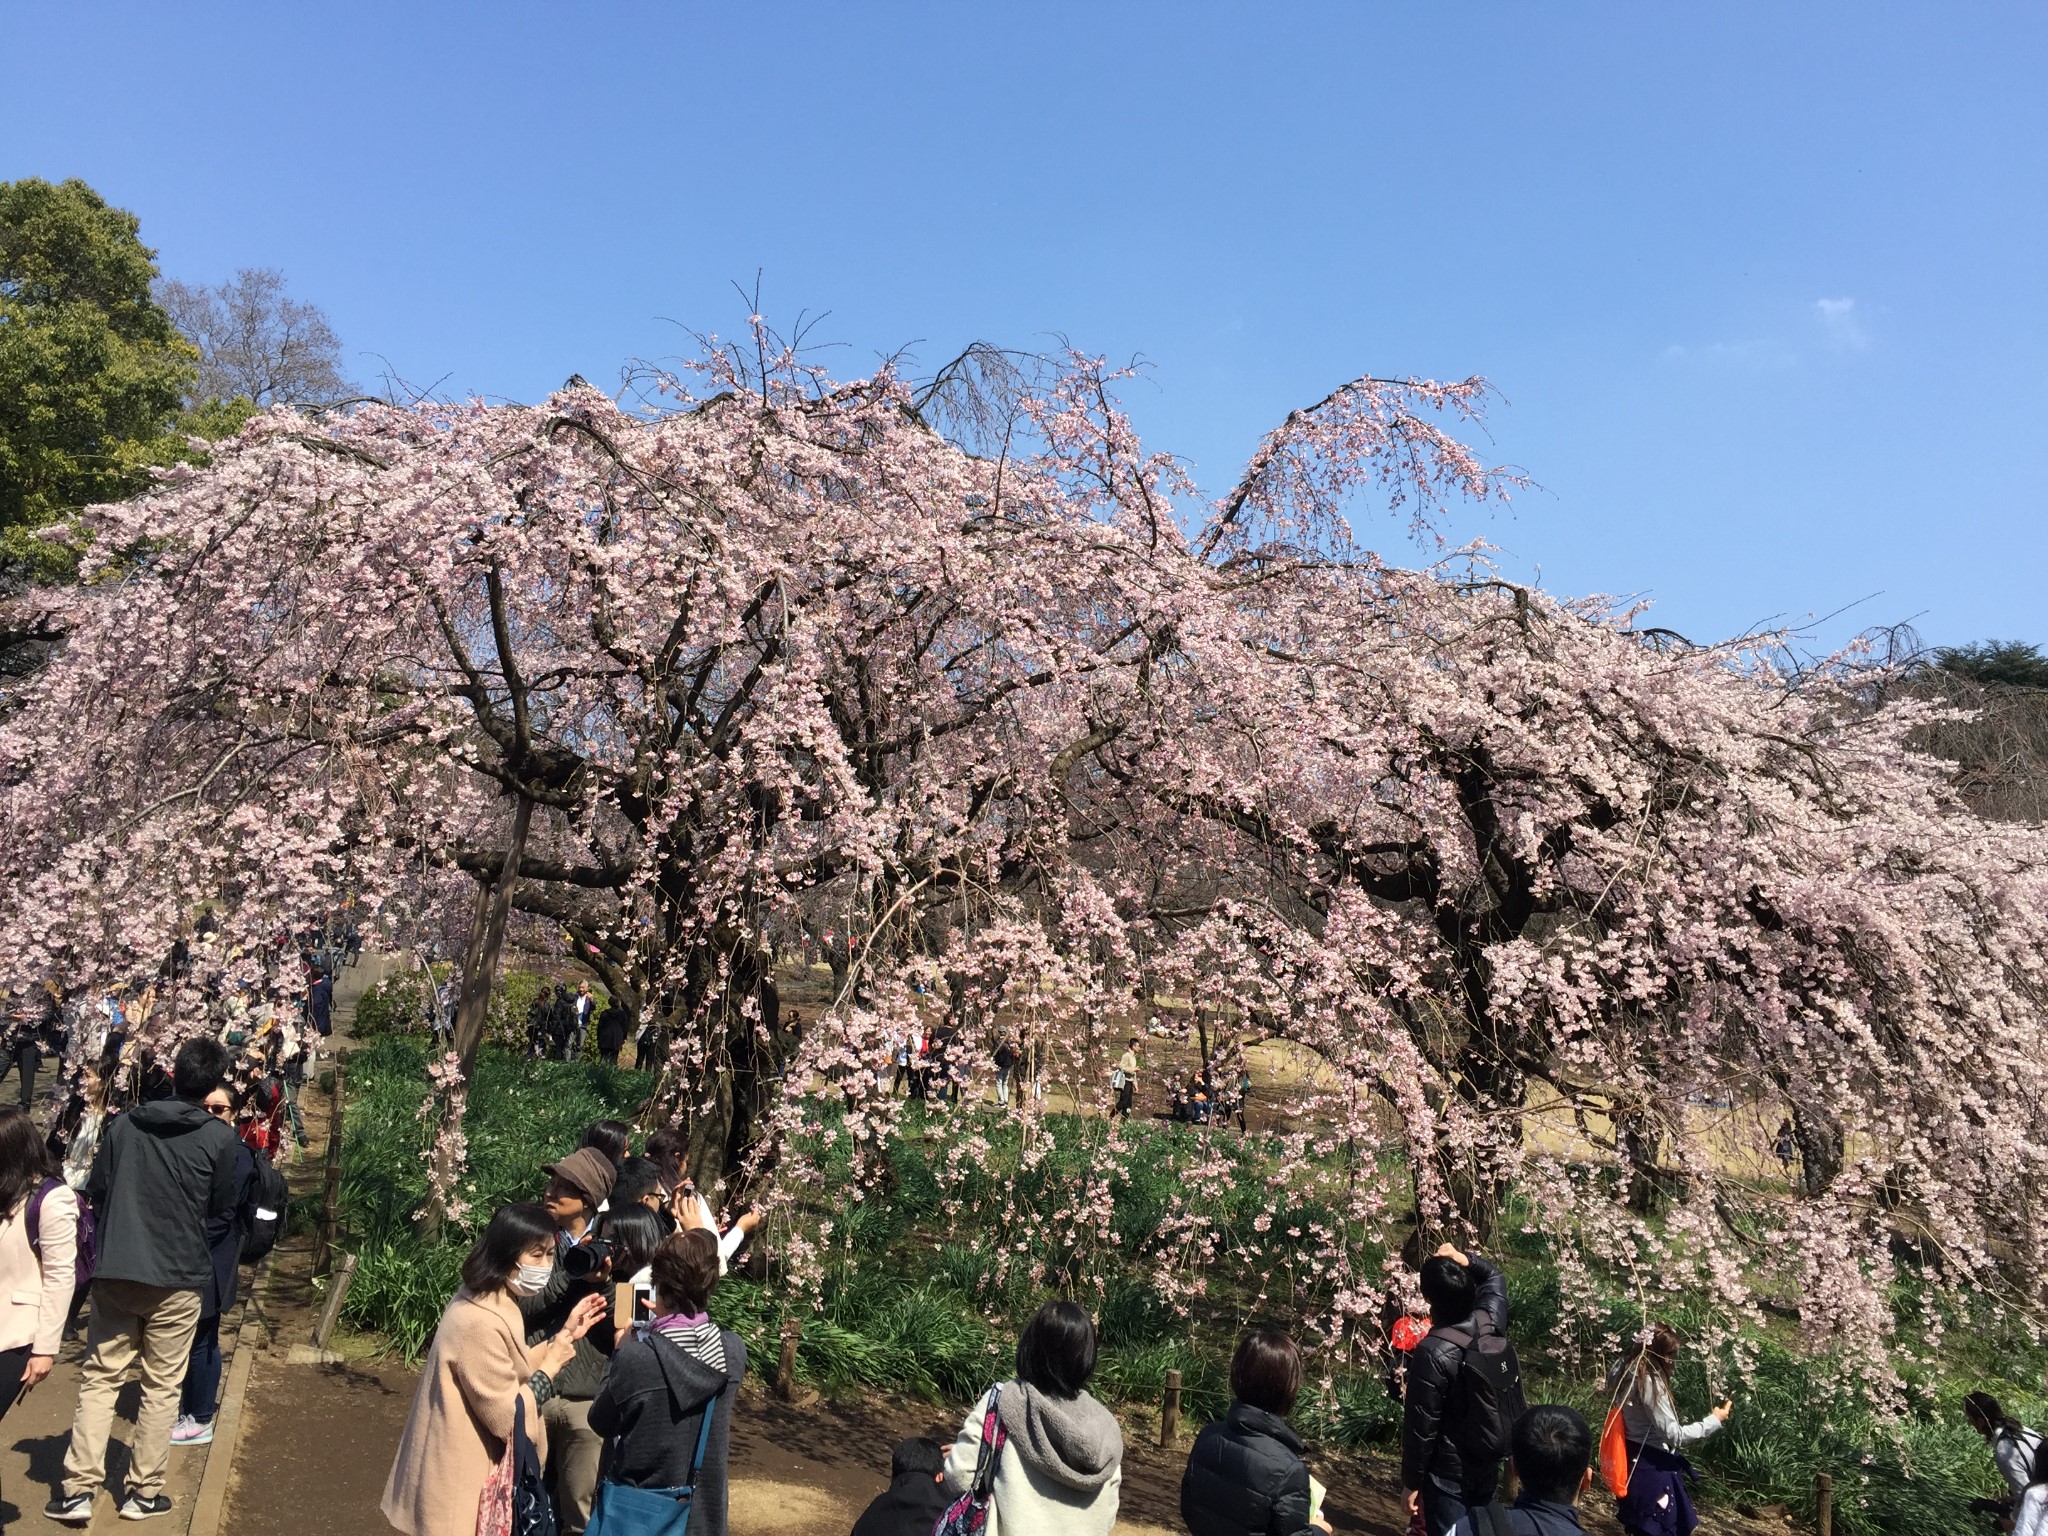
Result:
<instances>
[{"instance_id":1,"label":"woman in tan coat wearing a white face mask","mask_svg":"<svg viewBox=\"0 0 2048 1536\"><path fill-rule=\"evenodd\" d=\"M575 1341L604 1317L586 1296L545 1343L526 1348L518 1296L539 1292L555 1268L555 1219L541 1204L504 1206L463 1260L463 1288L434 1329L412 1415L385 1481L383 1513L408 1536L475 1536L477 1499L512 1434L516 1405L547 1454L541 1403Z\"/></svg>"}]
</instances>

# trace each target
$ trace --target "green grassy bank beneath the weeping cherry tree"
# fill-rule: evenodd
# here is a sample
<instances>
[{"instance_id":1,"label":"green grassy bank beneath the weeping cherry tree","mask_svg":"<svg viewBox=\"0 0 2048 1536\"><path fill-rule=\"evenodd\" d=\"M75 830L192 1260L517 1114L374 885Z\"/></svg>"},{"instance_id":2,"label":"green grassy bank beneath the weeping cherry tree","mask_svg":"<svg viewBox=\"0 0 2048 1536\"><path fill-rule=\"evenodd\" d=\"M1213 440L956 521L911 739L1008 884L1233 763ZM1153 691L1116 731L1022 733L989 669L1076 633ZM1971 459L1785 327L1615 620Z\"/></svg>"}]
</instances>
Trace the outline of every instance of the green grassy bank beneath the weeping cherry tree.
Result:
<instances>
[{"instance_id":1,"label":"green grassy bank beneath the weeping cherry tree","mask_svg":"<svg viewBox=\"0 0 2048 1536\"><path fill-rule=\"evenodd\" d=\"M416 1036L381 1036L352 1057L342 1159L342 1204L360 1253L348 1319L387 1335L408 1356L426 1350L469 1241L467 1231L434 1247L412 1237L426 1192L424 1061ZM541 1163L573 1147L590 1120L631 1118L647 1090L639 1073L530 1063L485 1049L471 1090L471 1159L461 1186L475 1219L504 1200L539 1194ZM889 1147L881 1188L866 1198L854 1198L850 1167L831 1163L825 1182L807 1190L809 1221L831 1219L815 1307L786 1296L772 1270L766 1282L735 1274L719 1286L713 1313L748 1339L758 1360L774 1358L784 1315L795 1311L803 1321L801 1378L827 1391L877 1386L961 1403L1006 1374L1016 1327L1044 1294L1036 1276L1063 1272L1079 1278L1077 1290L1098 1315L1098 1391L1110 1401L1155 1403L1165 1372L1180 1370L1184 1411L1200 1423L1227 1403L1225 1370L1245 1317L1292 1323L1323 1300L1327 1276L1274 1268L1212 1286L1200 1305L1180 1313L1135 1262L1192 1169L1219 1155L1260 1163L1270 1147L1257 1137L1163 1122L1133 1126L1130 1153L1110 1184L1116 1241L1090 1241L1059 1212L1071 1206L1098 1151L1102 1120L1049 1116L1042 1139L1026 1149L1016 1120L979 1108L956 1114L958 1124L926 1126L913 1110L905 1135ZM969 1124L989 1143L983 1169L948 1163L956 1133ZM1257 1180L1235 1186L1255 1190ZM1221 1198L1206 1214L1223 1231L1225 1251L1239 1237L1249 1247L1262 1214L1272 1217L1268 1231L1280 1233L1331 1217L1313 1186L1257 1200ZM1499 1260L1532 1401L1575 1403L1597 1423L1606 1362L1559 1346L1567 1331L1546 1239L1513 1225L1509 1231ZM774 1239L770 1231L770 1249ZM1006 1266L991 1257L997 1245ZM1896 1303L1903 1321L1917 1317L1915 1296ZM1614 1327L1638 1319L1626 1296L1610 1305ZM1683 1298L1663 1307L1681 1329L1690 1313ZM1735 1389L1735 1417L1696 1456L1708 1503L1784 1503L1810 1513L1812 1475L1829 1470L1837 1526L1849 1536L1952 1536L1974 1528L1964 1501L1995 1487L1982 1442L1962 1425L1962 1393L1985 1386L2038 1421L2044 1354L2017 1331L1978 1317L1950 1319L1946 1368L1915 1378L1913 1405L1898 1421L1880 1421L1831 1395L1821 1372L1794 1354L1784 1325L1759 1323L1751 1346L1757 1364ZM1704 1411L1702 1362L1681 1366L1677 1389L1681 1405ZM1376 1368L1329 1368L1323 1356L1296 1419L1313 1442L1393 1446L1401 1409Z\"/></svg>"}]
</instances>

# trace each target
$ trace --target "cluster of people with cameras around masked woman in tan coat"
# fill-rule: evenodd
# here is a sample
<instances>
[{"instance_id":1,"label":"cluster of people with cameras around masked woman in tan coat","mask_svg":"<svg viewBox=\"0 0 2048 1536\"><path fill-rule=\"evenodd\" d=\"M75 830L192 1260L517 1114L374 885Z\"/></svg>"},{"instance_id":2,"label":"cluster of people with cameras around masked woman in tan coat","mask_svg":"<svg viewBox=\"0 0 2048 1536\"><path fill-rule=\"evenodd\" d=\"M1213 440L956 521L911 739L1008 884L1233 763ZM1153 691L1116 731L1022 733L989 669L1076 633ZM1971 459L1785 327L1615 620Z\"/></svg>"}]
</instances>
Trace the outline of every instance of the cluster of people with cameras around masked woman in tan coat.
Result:
<instances>
[{"instance_id":1,"label":"cluster of people with cameras around masked woman in tan coat","mask_svg":"<svg viewBox=\"0 0 2048 1536\"><path fill-rule=\"evenodd\" d=\"M535 1200L492 1214L385 1483L393 1528L526 1530L512 1524L512 1503L494 1499L516 1501L500 1473L508 1456L530 1454L565 1536L659 1530L631 1524L635 1503L649 1501L657 1516L686 1503L692 1532L725 1530L748 1352L707 1305L760 1210L721 1225L684 1176L684 1151L674 1130L655 1130L633 1155L629 1128L598 1120L539 1169Z\"/></svg>"}]
</instances>

